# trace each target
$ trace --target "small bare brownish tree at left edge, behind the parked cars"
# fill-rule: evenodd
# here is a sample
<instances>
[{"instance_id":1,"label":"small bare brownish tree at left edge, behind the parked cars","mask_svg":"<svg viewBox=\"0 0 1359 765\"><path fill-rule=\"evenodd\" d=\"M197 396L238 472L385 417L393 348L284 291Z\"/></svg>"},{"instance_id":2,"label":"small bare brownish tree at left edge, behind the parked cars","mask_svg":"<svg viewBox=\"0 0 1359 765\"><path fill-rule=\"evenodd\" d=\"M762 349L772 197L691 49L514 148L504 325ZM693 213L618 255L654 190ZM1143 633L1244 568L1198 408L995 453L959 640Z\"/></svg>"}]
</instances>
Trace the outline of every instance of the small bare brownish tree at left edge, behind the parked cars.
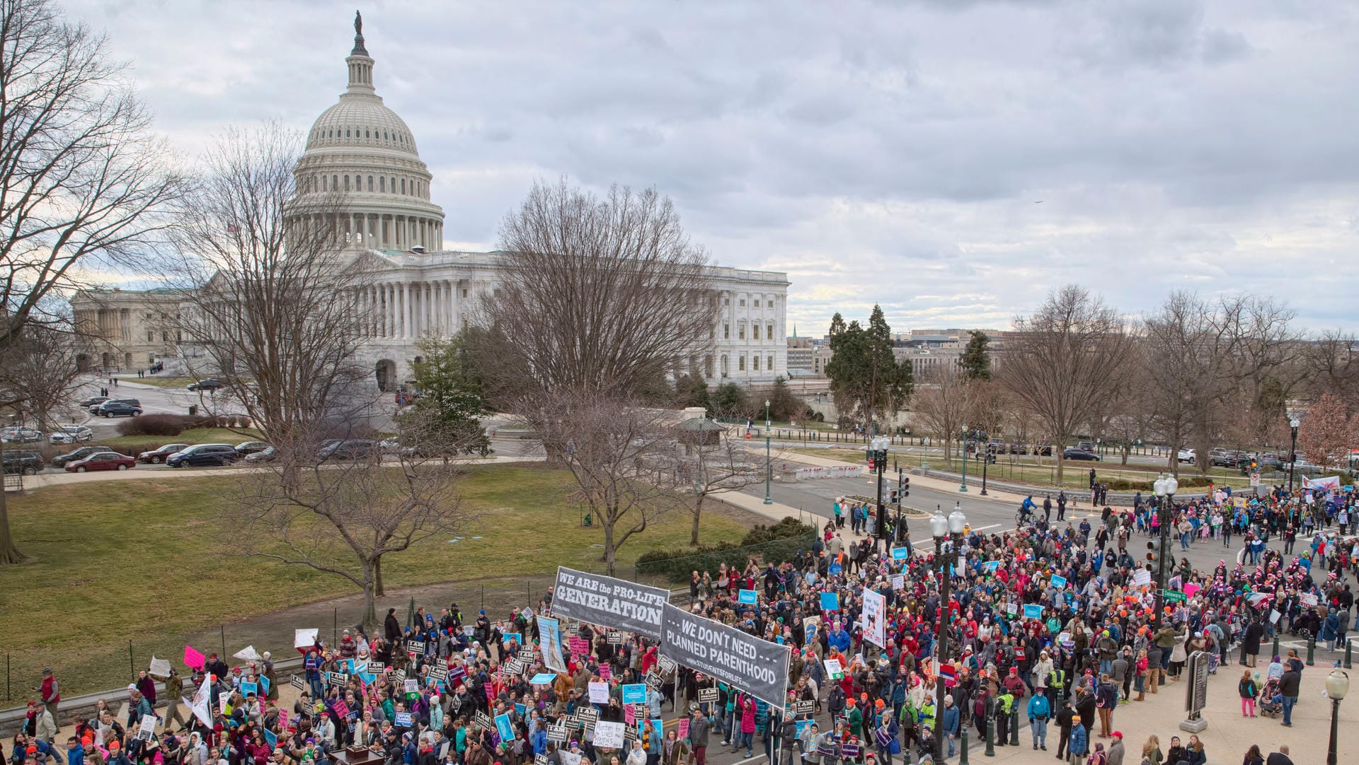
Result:
<instances>
[{"instance_id":1,"label":"small bare brownish tree at left edge, behind the parked cars","mask_svg":"<svg viewBox=\"0 0 1359 765\"><path fill-rule=\"evenodd\" d=\"M30 324L0 347L0 406L18 408L38 430L56 429L58 411L80 384L80 335L53 324Z\"/></svg>"}]
</instances>

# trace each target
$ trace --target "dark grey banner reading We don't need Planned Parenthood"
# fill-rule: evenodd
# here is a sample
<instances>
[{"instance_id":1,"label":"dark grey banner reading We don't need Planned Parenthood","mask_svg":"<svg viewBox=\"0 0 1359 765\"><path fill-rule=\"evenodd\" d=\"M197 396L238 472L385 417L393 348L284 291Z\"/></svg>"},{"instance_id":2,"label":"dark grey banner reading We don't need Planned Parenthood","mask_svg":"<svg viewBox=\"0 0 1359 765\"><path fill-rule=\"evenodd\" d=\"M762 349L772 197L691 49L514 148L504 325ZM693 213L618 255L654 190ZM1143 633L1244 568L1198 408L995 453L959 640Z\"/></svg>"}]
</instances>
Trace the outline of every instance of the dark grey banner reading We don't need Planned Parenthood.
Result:
<instances>
[{"instance_id":1,"label":"dark grey banner reading We don't need Planned Parenthood","mask_svg":"<svg viewBox=\"0 0 1359 765\"><path fill-rule=\"evenodd\" d=\"M735 685L769 704L788 690L788 646L771 643L670 604L662 650L681 665Z\"/></svg>"}]
</instances>

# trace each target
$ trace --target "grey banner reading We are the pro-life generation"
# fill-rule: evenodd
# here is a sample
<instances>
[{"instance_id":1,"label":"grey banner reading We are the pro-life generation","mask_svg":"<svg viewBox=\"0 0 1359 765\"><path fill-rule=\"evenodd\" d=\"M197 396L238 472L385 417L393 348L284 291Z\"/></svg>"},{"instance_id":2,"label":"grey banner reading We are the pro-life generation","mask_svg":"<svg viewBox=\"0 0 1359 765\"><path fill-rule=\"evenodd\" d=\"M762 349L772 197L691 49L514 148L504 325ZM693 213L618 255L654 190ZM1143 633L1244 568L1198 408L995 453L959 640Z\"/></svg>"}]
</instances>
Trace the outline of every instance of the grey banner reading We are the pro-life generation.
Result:
<instances>
[{"instance_id":1,"label":"grey banner reading We are the pro-life generation","mask_svg":"<svg viewBox=\"0 0 1359 765\"><path fill-rule=\"evenodd\" d=\"M559 567L552 613L660 638L660 609L669 600L660 587Z\"/></svg>"}]
</instances>

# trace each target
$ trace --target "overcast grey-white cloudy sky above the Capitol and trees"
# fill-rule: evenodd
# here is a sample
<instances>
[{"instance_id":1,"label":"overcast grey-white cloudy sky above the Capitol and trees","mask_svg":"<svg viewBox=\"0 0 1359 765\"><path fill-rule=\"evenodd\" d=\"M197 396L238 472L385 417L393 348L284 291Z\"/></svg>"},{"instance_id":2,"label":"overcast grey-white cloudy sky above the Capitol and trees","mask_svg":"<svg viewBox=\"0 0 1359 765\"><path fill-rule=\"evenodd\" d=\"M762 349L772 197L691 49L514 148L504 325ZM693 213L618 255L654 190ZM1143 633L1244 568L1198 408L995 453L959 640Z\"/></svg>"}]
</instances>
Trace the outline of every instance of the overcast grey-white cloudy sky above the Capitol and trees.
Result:
<instances>
[{"instance_id":1,"label":"overcast grey-white cloudy sky above the Capitol and trees","mask_svg":"<svg viewBox=\"0 0 1359 765\"><path fill-rule=\"evenodd\" d=\"M186 155L304 130L345 85L353 3L65 7ZM1006 327L1072 281L1129 313L1250 290L1359 327L1354 0L360 8L450 247L493 247L567 175L655 186L718 263L787 271L803 335L874 302L896 330Z\"/></svg>"}]
</instances>

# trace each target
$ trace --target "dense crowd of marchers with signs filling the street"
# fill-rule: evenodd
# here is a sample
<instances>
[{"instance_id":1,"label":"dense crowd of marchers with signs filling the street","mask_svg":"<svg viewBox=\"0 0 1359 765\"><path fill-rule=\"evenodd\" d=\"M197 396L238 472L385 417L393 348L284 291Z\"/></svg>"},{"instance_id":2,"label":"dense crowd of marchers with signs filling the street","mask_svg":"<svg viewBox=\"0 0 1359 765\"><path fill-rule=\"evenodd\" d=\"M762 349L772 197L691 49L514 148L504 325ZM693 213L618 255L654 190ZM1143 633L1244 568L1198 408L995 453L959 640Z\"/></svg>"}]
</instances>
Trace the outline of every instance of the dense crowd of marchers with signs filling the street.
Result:
<instances>
[{"instance_id":1,"label":"dense crowd of marchers with signs filling the street","mask_svg":"<svg viewBox=\"0 0 1359 765\"><path fill-rule=\"evenodd\" d=\"M185 678L141 673L125 712L101 704L65 720L65 735L57 732L60 688L48 673L7 760L705 765L711 749L728 746L746 757L758 747L779 765L893 765L953 758L970 731L974 741L993 732L995 746L1091 765L1200 765L1208 756L1193 735L1163 747L1157 735L1125 745L1120 707L1181 682L1188 658L1201 651L1211 673L1233 658L1245 665L1242 715L1277 715L1291 726L1305 665L1295 651L1265 651L1269 661L1260 662L1265 642L1275 631L1309 631L1330 648L1347 639L1354 597L1345 579L1356 566L1354 540L1341 534L1355 522L1347 491L1276 488L1246 501L1218 491L1165 514L1137 498L1132 509L1106 507L1076 525L1053 524L1051 502L1041 511L1026 505L1031 515L1012 530L968 530L957 549L946 541L951 571L932 549L911 551L909 534L892 545L847 543L833 519L791 560L694 571L696 613L791 647L781 709L674 666L654 642L607 625L571 623L560 639L565 666L552 670L534 619L550 614L548 594L495 619L467 619L457 604L438 614L417 609L409 620L389 612L371 635L355 628L337 644L300 648L292 677L269 654L235 666L213 654ZM1167 587L1184 600L1158 610L1148 564L1128 543L1161 524L1185 545L1238 536L1242 562L1224 557L1211 570L1167 562ZM1286 552L1260 544L1256 553L1271 537L1287 540ZM860 625L866 589L886 600L882 646ZM756 602L742 604L741 590L756 590ZM167 703L159 712L156 680ZM607 684L607 701L591 701L591 684ZM647 686L646 701L624 704L621 686L635 684ZM285 689L296 701L281 701ZM666 707L678 724L659 723ZM597 745L598 722L625 723L624 745ZM1283 746L1268 756L1252 746L1243 760L1291 762Z\"/></svg>"}]
</instances>

